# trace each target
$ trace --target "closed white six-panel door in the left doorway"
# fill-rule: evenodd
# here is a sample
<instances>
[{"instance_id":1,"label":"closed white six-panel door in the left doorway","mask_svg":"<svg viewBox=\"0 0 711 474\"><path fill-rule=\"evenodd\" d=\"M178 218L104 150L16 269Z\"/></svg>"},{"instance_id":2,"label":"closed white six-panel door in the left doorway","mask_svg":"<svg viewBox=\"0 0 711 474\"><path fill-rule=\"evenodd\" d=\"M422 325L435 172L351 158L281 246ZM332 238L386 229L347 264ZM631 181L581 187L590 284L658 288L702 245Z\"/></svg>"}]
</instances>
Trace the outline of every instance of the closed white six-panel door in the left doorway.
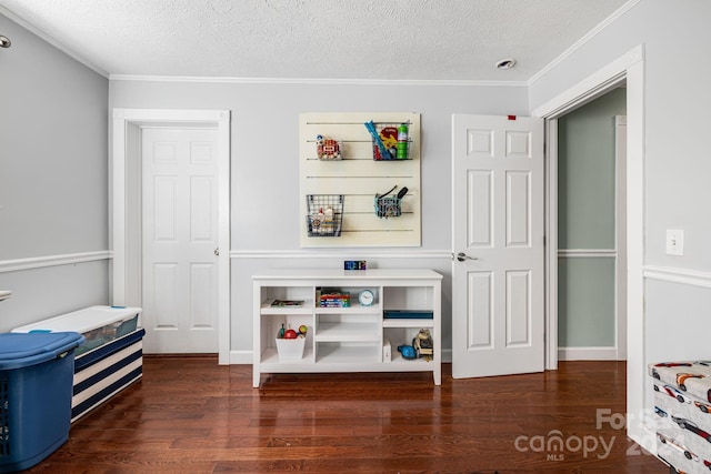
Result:
<instances>
[{"instance_id":1,"label":"closed white six-panel door in the left doorway","mask_svg":"<svg viewBox=\"0 0 711 474\"><path fill-rule=\"evenodd\" d=\"M147 353L218 352L217 131L142 129Z\"/></svg>"}]
</instances>

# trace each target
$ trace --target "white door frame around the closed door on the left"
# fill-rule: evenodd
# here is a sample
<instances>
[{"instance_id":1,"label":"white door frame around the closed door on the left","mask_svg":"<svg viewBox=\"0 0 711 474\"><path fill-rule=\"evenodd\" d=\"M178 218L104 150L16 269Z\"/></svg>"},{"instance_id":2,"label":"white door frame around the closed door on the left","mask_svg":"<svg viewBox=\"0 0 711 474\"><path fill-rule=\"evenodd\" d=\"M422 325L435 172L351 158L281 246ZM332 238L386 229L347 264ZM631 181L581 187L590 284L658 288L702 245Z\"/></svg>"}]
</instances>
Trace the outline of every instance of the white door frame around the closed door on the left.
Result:
<instances>
[{"instance_id":1,"label":"white door frame around the closed door on the left","mask_svg":"<svg viewBox=\"0 0 711 474\"><path fill-rule=\"evenodd\" d=\"M113 109L110 165L112 304L141 305L140 127L200 127L218 131L219 363L230 355L230 111Z\"/></svg>"}]
</instances>

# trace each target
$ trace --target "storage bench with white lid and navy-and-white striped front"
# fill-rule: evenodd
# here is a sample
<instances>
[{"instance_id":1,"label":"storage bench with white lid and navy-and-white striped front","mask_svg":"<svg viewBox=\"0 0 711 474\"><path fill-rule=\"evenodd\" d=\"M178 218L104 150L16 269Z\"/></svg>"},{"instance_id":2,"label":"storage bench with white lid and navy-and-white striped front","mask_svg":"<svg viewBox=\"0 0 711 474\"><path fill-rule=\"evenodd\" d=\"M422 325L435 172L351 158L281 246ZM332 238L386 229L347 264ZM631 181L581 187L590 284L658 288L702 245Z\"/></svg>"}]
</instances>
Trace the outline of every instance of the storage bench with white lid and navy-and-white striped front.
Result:
<instances>
[{"instance_id":1,"label":"storage bench with white lid and navy-and-white striped front","mask_svg":"<svg viewBox=\"0 0 711 474\"><path fill-rule=\"evenodd\" d=\"M143 335L140 307L91 306L39 321L12 332L81 333L74 351L71 421L138 381L143 375Z\"/></svg>"}]
</instances>

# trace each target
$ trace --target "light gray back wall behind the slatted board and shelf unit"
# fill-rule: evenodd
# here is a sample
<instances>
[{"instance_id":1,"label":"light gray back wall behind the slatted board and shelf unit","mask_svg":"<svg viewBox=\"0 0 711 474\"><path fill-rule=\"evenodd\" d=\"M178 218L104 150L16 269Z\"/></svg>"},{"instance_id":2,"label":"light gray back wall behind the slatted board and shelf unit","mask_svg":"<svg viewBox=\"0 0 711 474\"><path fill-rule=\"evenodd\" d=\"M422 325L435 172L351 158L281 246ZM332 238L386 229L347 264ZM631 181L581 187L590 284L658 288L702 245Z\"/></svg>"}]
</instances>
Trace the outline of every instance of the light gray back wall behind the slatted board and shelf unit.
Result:
<instances>
[{"instance_id":1,"label":"light gray back wall behind the slatted board and shelf unit","mask_svg":"<svg viewBox=\"0 0 711 474\"><path fill-rule=\"evenodd\" d=\"M251 275L287 266L431 268L444 274L443 341L451 347L451 115L527 114L524 87L375 85L240 82L111 81L111 108L229 109L232 111L231 350L252 347ZM422 118L422 246L415 249L299 248L299 114L302 112L419 112ZM270 219L264 219L268 210ZM423 251L442 255L419 258ZM283 259L264 256L284 253ZM334 253L342 253L338 255ZM261 256L252 256L257 253ZM373 253L379 253L373 258ZM299 255L316 255L312 259ZM407 258L399 255L405 254ZM412 254L415 254L412 256ZM297 255L296 259L293 256ZM320 255L320 256L319 256ZM324 256L326 255L326 256ZM328 256L332 255L332 256ZM370 256L369 256L370 255ZM290 259L292 258L292 259Z\"/></svg>"}]
</instances>

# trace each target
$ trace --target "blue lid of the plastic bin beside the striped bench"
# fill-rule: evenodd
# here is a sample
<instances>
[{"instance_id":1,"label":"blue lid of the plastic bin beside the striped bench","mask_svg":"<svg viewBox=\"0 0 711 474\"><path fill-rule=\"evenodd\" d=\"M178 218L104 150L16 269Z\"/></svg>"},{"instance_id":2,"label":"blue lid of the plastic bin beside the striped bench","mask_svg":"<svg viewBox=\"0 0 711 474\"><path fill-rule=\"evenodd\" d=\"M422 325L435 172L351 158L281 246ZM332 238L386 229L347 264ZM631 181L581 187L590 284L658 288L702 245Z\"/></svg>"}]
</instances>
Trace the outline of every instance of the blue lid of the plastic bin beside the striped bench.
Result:
<instances>
[{"instance_id":1,"label":"blue lid of the plastic bin beside the striped bench","mask_svg":"<svg viewBox=\"0 0 711 474\"><path fill-rule=\"evenodd\" d=\"M57 359L76 349L84 336L76 332L0 334L0 370L12 370Z\"/></svg>"}]
</instances>

